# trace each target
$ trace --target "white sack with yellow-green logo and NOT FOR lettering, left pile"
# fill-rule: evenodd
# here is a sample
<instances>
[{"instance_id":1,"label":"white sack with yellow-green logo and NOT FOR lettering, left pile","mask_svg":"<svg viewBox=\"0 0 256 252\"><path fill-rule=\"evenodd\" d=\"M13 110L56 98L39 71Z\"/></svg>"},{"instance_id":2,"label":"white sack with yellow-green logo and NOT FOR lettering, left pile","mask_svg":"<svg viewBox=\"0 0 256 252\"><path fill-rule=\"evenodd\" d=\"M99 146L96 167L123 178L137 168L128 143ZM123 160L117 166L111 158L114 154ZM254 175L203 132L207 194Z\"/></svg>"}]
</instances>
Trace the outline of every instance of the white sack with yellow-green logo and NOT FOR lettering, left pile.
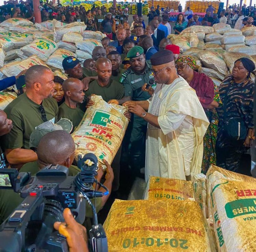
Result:
<instances>
[{"instance_id":1,"label":"white sack with yellow-green logo and NOT FOR lettering, left pile","mask_svg":"<svg viewBox=\"0 0 256 252\"><path fill-rule=\"evenodd\" d=\"M41 37L31 44L20 48L26 56L37 55L41 60L47 61L48 57L58 49L58 45L51 39Z\"/></svg>"}]
</instances>

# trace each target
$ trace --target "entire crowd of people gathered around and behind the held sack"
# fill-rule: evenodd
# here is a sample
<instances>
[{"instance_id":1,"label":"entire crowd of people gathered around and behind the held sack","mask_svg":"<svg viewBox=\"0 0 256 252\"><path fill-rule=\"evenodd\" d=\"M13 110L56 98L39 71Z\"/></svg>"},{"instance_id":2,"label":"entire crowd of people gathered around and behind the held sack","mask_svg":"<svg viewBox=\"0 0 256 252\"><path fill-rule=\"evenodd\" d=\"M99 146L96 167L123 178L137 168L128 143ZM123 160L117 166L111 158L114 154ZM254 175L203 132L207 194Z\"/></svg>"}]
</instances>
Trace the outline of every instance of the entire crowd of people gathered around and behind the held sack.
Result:
<instances>
[{"instance_id":1,"label":"entire crowd of people gathered around and behind the held sack","mask_svg":"<svg viewBox=\"0 0 256 252\"><path fill-rule=\"evenodd\" d=\"M23 6L15 4L17 1L10 0L1 7L4 19L32 17L29 0L21 1ZM134 178L144 176L146 182L151 175L190 180L197 173L205 174L211 164L238 171L242 154L255 139L255 65L250 59L236 60L232 73L217 87L196 70L193 57L180 55L180 48L167 38L172 32L168 16L172 10L161 16L158 7L152 9L146 26L138 15L133 15L130 25L127 10L121 8L107 12L104 6L93 7L85 12L83 6L62 7L58 2L53 7L51 1L40 4L43 21L84 21L87 30L101 31L106 37L101 40L102 46L94 48L91 59L83 63L74 56L63 59L66 80L54 76L47 67L36 65L0 81L0 90L14 84L18 90L17 98L0 111L1 168L17 168L33 175L46 165L60 164L69 168L69 175L77 174L75 144L70 133L86 109L94 105L91 96L100 95L105 102L128 108L124 115L129 125L122 145L111 166L104 161L106 174L102 167L97 174L97 180L103 179L110 193L118 191L123 169L128 169ZM209 6L200 23L188 8L185 16L178 15L175 34L193 25L227 23L225 12L220 17L213 12ZM242 12L239 15L242 17ZM253 20L248 17L245 25L252 25ZM72 129L64 127L65 122L58 124L63 118L72 122ZM237 135L238 125L241 135ZM108 197L97 198L97 211ZM11 190L0 190L0 202L3 222L22 199ZM88 205L87 208L89 219L92 212ZM63 223L55 223L55 228L73 237L68 240L69 245L77 239L74 230L79 230L82 240L86 240L86 230L74 224L68 211L64 212L68 220L66 231ZM72 225L76 225L74 230L69 229Z\"/></svg>"}]
</instances>

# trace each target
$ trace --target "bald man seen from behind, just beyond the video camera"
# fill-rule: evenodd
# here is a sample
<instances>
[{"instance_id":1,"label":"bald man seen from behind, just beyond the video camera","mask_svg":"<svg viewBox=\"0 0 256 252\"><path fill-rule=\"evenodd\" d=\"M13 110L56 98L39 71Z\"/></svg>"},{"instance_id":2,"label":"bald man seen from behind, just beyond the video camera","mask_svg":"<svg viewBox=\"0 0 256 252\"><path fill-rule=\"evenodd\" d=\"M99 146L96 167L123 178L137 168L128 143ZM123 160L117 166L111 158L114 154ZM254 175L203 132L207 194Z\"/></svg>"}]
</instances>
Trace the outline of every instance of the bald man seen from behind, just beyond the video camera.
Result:
<instances>
[{"instance_id":1,"label":"bald man seen from behind, just beyond the video camera","mask_svg":"<svg viewBox=\"0 0 256 252\"><path fill-rule=\"evenodd\" d=\"M41 130L42 133L42 130ZM38 144L37 154L38 161L27 163L21 169L20 172L31 172L31 175L35 175L40 169L49 164L59 164L71 167L74 161L75 144L70 134L63 130L57 130L41 135L41 140ZM97 212L103 207L108 200L112 189L112 182L114 179L113 170L111 166L105 162L107 167L104 186L109 190L109 194L102 198L96 198L96 210ZM75 166L72 166L72 173L75 173ZM76 167L77 172L80 170ZM102 172L102 169L100 170ZM100 178L97 178L100 180ZM104 191L100 188L99 191ZM10 200L11 199L11 200ZM12 190L0 190L0 223L2 223L8 216L14 211L14 209L23 201L19 194ZM91 207L86 202L86 217L93 217ZM87 218L87 219L88 219ZM89 219L88 219L89 221ZM89 224L89 223L88 223Z\"/></svg>"}]
</instances>

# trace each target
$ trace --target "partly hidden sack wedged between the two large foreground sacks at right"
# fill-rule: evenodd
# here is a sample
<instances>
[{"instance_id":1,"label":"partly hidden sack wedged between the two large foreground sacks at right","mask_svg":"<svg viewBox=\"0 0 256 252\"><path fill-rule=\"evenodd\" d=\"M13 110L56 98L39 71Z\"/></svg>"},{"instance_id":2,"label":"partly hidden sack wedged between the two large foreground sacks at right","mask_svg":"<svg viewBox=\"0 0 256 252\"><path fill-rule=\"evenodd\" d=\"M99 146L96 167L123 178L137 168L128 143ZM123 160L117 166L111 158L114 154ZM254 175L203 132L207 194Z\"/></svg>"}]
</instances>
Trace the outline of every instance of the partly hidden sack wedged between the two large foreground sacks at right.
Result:
<instances>
[{"instance_id":1,"label":"partly hidden sack wedged between the two large foreground sacks at right","mask_svg":"<svg viewBox=\"0 0 256 252\"><path fill-rule=\"evenodd\" d=\"M203 216L207 218L207 200L206 200L206 176L203 173L196 174L193 179L194 198L200 206Z\"/></svg>"}]
</instances>

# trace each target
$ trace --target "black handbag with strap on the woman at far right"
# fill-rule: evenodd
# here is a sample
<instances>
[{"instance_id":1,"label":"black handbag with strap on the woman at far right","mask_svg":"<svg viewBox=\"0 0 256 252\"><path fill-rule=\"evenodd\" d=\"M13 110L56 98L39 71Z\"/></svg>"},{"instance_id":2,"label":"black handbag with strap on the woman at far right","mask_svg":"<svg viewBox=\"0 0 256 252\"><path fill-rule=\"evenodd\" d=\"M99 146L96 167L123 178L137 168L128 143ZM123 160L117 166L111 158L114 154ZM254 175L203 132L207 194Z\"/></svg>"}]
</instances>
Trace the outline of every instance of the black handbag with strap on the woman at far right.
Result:
<instances>
[{"instance_id":1,"label":"black handbag with strap on the woman at far right","mask_svg":"<svg viewBox=\"0 0 256 252\"><path fill-rule=\"evenodd\" d=\"M225 94L225 104L223 103L223 116L224 116L224 132L225 135L233 141L238 141L238 140L245 140L247 136L247 127L242 118L236 118L236 117L231 117L229 119L227 118L227 107L226 107L226 100L228 96L228 91L230 88L226 91Z\"/></svg>"}]
</instances>

